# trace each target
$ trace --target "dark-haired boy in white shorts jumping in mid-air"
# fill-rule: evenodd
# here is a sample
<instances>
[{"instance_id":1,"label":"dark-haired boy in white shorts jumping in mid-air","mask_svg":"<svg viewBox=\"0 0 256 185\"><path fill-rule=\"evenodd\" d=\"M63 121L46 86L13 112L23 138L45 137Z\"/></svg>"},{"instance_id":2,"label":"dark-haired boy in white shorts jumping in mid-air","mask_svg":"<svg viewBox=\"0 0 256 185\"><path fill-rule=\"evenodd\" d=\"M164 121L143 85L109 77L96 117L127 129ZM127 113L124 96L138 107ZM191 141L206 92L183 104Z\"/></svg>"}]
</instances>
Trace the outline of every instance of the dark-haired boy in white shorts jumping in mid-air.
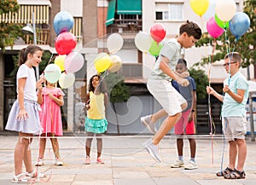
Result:
<instances>
[{"instance_id":1,"label":"dark-haired boy in white shorts jumping in mid-air","mask_svg":"<svg viewBox=\"0 0 256 185\"><path fill-rule=\"evenodd\" d=\"M201 28L194 22L187 20L187 22L180 26L179 36L172 38L160 50L160 55L154 65L154 71L151 72L151 76L148 78L147 87L149 92L154 95L154 98L164 108L164 112L168 114L154 137L144 143L148 153L158 162L161 161L158 153L159 142L177 123L181 112L188 105L187 101L172 87L171 83L173 79L177 81L177 84L183 86L189 85L188 79L185 78L188 76L188 72L184 72L183 74L174 72L177 60L181 58L180 53L182 47L185 49L191 48L200 38ZM142 118L143 124L146 124L150 128L151 117L144 118Z\"/></svg>"}]
</instances>

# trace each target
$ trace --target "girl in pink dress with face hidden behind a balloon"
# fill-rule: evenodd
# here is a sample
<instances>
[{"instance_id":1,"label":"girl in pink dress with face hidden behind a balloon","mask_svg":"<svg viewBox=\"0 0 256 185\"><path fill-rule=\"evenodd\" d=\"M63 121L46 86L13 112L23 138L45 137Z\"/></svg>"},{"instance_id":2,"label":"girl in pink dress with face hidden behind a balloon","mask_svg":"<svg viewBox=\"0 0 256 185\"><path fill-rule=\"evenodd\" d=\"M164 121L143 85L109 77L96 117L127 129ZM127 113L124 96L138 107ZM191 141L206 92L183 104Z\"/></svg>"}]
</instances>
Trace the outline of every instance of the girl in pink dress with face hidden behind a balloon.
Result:
<instances>
[{"instance_id":1,"label":"girl in pink dress with face hidden behind a balloon","mask_svg":"<svg viewBox=\"0 0 256 185\"><path fill-rule=\"evenodd\" d=\"M42 138L40 138L39 159L36 165L44 165L44 150L46 134L50 136L53 151L55 153L55 165L63 165L59 153L59 142L55 136L62 136L61 106L64 105L64 93L55 84L46 81L46 87L38 90L38 103L42 111L39 113L43 127Z\"/></svg>"}]
</instances>

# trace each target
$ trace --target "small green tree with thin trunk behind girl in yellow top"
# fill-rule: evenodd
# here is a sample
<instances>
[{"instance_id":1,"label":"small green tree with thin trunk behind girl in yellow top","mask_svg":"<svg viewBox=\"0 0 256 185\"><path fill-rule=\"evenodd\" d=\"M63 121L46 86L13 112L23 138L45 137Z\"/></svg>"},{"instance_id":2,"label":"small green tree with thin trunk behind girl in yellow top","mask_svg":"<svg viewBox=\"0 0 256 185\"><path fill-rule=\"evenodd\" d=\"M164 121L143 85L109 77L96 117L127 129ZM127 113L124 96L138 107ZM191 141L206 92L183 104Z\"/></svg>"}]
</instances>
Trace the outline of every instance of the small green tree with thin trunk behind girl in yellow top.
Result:
<instances>
[{"instance_id":1,"label":"small green tree with thin trunk behind girl in yellow top","mask_svg":"<svg viewBox=\"0 0 256 185\"><path fill-rule=\"evenodd\" d=\"M119 119L115 103L128 101L128 99L130 98L130 92L128 90L128 87L125 85L125 78L123 76L117 75L116 73L109 73L105 78L105 82L108 88L108 97L113 107L113 112L115 113L115 118L117 121L117 131L119 134Z\"/></svg>"}]
</instances>

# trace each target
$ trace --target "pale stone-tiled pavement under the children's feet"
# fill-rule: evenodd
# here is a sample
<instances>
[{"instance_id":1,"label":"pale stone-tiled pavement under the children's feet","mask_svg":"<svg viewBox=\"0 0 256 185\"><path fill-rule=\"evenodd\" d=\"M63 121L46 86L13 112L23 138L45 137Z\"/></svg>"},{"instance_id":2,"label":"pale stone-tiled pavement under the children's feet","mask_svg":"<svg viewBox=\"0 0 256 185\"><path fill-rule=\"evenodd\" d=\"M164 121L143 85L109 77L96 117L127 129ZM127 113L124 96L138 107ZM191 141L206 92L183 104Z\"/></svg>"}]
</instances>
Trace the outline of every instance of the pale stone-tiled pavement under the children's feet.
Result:
<instances>
[{"instance_id":1,"label":"pale stone-tiled pavement under the children's feet","mask_svg":"<svg viewBox=\"0 0 256 185\"><path fill-rule=\"evenodd\" d=\"M166 136L160 142L160 155L163 163L155 164L142 143L150 136L104 136L102 157L104 165L96 164L96 140L92 143L91 165L84 165L84 136L62 136L59 139L63 166L55 166L54 155L47 142L45 165L39 167L47 178L36 184L53 185L194 185L194 184L256 184L256 143L247 139L246 179L226 180L217 177L221 161L223 167L228 162L228 144L224 145L220 136L198 136L196 170L172 169L170 165L177 159L176 139ZM0 136L0 184L13 184L13 152L17 136ZM38 156L38 138L32 142L32 160ZM224 158L223 156L224 151ZM213 155L212 155L213 152ZM189 159L189 142L184 141L184 159Z\"/></svg>"}]
</instances>

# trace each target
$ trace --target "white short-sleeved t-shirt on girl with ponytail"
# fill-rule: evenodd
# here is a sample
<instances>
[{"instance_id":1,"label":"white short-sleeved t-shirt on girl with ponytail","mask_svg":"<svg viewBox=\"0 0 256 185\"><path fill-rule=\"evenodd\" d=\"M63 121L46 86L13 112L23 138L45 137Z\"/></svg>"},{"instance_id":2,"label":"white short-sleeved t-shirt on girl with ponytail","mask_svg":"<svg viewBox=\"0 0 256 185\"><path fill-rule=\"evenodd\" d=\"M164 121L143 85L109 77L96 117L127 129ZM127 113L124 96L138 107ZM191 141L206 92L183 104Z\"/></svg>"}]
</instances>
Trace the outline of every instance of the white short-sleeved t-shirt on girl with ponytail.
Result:
<instances>
[{"instance_id":1,"label":"white short-sleeved t-shirt on girl with ponytail","mask_svg":"<svg viewBox=\"0 0 256 185\"><path fill-rule=\"evenodd\" d=\"M26 78L26 84L24 88L24 99L31 100L31 101L38 101L37 96L37 87L36 87L36 77L35 77L35 71L33 68L30 68L26 66L25 64L22 64L19 67L19 70L17 72L17 94L18 87L19 87L19 78Z\"/></svg>"}]
</instances>

